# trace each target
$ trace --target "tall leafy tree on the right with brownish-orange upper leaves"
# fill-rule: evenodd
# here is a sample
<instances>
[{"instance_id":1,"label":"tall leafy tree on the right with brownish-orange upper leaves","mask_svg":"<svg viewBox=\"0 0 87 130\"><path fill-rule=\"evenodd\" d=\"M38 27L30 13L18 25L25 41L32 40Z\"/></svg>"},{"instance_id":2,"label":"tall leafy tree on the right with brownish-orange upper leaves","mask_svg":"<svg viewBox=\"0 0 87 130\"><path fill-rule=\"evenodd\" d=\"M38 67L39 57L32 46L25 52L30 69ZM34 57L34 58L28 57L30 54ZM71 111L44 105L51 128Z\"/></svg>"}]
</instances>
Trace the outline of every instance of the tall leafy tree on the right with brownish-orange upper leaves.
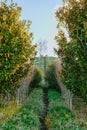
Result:
<instances>
[{"instance_id":1,"label":"tall leafy tree on the right with brownish-orange upper leaves","mask_svg":"<svg viewBox=\"0 0 87 130\"><path fill-rule=\"evenodd\" d=\"M87 99L87 0L63 1L55 12L59 30L55 36L59 49L55 51L62 60L61 78L73 93Z\"/></svg>"}]
</instances>

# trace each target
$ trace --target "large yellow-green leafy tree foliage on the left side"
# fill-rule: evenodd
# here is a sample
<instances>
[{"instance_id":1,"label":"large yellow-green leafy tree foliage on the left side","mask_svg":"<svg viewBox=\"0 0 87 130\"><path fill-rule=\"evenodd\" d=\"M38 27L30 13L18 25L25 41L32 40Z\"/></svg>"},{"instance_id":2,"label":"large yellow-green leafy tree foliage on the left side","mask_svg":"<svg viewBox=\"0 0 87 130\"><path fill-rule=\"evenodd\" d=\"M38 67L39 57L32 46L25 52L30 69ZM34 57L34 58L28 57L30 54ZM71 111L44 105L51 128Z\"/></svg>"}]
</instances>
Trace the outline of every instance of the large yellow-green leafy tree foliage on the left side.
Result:
<instances>
[{"instance_id":1,"label":"large yellow-green leafy tree foliage on the left side","mask_svg":"<svg viewBox=\"0 0 87 130\"><path fill-rule=\"evenodd\" d=\"M20 20L21 7L0 4L0 93L16 90L35 56L30 21Z\"/></svg>"}]
</instances>

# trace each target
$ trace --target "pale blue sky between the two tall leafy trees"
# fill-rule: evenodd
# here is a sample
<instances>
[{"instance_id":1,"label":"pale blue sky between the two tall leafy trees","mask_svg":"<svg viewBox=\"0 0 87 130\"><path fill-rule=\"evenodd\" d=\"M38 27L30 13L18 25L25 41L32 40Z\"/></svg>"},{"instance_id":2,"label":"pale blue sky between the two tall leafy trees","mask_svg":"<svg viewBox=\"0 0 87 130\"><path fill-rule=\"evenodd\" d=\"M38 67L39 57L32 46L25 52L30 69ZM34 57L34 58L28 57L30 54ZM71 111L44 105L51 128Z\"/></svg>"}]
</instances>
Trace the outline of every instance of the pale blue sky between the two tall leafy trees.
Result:
<instances>
[{"instance_id":1,"label":"pale blue sky between the two tall leafy trees","mask_svg":"<svg viewBox=\"0 0 87 130\"><path fill-rule=\"evenodd\" d=\"M10 0L8 0L10 1ZM55 10L62 5L62 0L13 0L22 7L21 19L32 21L30 31L34 34L34 43L40 39L47 41L47 55L54 56L57 46L54 37L57 33Z\"/></svg>"}]
</instances>

